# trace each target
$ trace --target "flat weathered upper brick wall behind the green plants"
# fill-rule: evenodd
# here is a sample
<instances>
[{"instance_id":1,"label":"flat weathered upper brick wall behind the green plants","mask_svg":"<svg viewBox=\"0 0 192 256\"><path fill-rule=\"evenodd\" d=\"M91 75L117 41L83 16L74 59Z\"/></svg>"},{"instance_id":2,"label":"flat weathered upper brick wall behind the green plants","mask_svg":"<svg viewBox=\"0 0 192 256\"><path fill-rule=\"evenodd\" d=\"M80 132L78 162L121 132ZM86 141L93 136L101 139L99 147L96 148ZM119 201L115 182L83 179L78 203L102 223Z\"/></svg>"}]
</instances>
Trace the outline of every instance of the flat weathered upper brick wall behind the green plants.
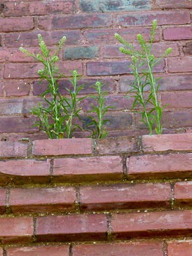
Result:
<instances>
[{"instance_id":1,"label":"flat weathered upper brick wall behind the green plants","mask_svg":"<svg viewBox=\"0 0 192 256\"><path fill-rule=\"evenodd\" d=\"M192 126L191 102L191 30L190 0L71 0L71 1L8 1L0 5L0 137L17 140L30 137L46 138L31 127L35 117L29 114L37 106L46 83L37 84L39 64L24 58L19 47L37 53L37 34L41 33L50 47L66 35L60 53L60 69L69 75L78 68L85 84L83 94L94 93L90 87L102 79L108 91L107 103L115 106L108 112L110 136L147 134L138 114L130 112L132 100L123 98L130 89L132 76L127 65L130 59L119 52L114 34L123 35L136 43L137 33L149 38L153 19L157 19L155 56L168 47L173 51L159 66L162 76L159 99L169 104L163 114L164 133L184 133ZM60 81L60 93L67 94L68 81ZM82 102L82 127L86 128L88 110L86 98ZM89 133L77 131L75 137Z\"/></svg>"}]
</instances>

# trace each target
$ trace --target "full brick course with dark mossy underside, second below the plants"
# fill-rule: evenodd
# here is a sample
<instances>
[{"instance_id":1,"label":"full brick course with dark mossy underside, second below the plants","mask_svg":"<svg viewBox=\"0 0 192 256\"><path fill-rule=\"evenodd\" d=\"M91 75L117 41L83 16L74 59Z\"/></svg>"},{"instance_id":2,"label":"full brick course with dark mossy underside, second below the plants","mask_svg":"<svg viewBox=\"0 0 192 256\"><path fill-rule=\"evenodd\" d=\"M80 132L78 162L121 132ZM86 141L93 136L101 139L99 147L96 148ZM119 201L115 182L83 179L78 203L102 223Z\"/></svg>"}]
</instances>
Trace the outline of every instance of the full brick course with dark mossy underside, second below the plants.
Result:
<instances>
[{"instance_id":1,"label":"full brick course with dark mossy underside, second below the plants","mask_svg":"<svg viewBox=\"0 0 192 256\"><path fill-rule=\"evenodd\" d=\"M125 159L125 158L124 158ZM125 171L125 168L127 171ZM94 181L191 179L192 154L90 156L0 161L0 186Z\"/></svg>"}]
</instances>

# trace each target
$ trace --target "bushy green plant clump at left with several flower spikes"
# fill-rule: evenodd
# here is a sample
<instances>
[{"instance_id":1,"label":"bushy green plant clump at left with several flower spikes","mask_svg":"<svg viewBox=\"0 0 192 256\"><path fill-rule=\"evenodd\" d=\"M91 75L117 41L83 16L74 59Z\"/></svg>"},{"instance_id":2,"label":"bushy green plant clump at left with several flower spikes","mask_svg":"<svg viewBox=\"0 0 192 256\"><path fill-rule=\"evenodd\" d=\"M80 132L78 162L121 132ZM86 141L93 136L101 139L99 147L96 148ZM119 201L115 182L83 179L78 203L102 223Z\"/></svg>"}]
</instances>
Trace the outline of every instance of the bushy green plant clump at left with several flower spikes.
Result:
<instances>
[{"instance_id":1,"label":"bushy green plant clump at left with several flower spikes","mask_svg":"<svg viewBox=\"0 0 192 256\"><path fill-rule=\"evenodd\" d=\"M43 41L41 34L38 35L38 39L42 54L35 56L35 54L20 47L20 51L25 53L26 56L32 56L43 64L44 68L39 70L38 74L41 76L41 81L44 79L48 81L47 91L40 95L45 99L48 107L42 107L41 102L39 102L39 108L34 107L31 109L31 113L39 117L39 120L35 121L33 126L37 126L42 131L45 131L49 139L62 139L65 133L66 137L69 139L76 128L82 130L78 123L73 122L74 117L80 119L79 112L81 108L76 109L77 102L85 98L77 98L77 94L83 89L83 86L77 87L77 81L81 79L81 75L77 73L77 70L71 72L73 78L70 81L73 84L73 91L66 88L71 98L61 96L58 92L58 79L65 75L58 72L56 62L59 61L58 53L60 49L62 49L66 37L62 37L59 41L58 48L55 49L52 56L50 56L50 49L47 49L47 45L45 41ZM39 81L39 83L41 83L41 81ZM48 94L52 95L52 97L47 98Z\"/></svg>"}]
</instances>

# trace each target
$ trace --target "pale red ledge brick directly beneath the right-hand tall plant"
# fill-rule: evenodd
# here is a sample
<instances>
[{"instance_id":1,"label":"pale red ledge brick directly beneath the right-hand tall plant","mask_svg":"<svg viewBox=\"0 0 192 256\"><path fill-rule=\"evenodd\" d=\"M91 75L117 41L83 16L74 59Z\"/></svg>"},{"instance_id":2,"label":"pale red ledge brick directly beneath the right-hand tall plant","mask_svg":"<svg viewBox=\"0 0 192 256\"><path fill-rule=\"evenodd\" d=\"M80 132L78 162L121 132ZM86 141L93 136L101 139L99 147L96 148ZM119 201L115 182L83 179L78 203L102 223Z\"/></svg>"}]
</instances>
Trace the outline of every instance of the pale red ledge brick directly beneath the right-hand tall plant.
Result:
<instances>
[{"instance_id":1,"label":"pale red ledge brick directly beneath the right-hand tall plant","mask_svg":"<svg viewBox=\"0 0 192 256\"><path fill-rule=\"evenodd\" d=\"M142 137L144 152L161 152L166 150L191 151L192 134L145 135Z\"/></svg>"}]
</instances>

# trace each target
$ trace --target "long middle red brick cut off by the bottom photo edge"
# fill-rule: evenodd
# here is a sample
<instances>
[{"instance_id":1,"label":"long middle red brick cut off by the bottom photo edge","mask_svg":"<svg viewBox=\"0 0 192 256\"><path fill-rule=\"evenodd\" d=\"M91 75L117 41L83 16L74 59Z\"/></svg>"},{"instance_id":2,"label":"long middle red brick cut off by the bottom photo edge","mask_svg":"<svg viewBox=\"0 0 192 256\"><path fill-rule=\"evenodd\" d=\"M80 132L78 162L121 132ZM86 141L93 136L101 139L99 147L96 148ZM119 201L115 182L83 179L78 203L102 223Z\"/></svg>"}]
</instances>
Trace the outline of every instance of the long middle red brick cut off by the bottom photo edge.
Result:
<instances>
[{"instance_id":1,"label":"long middle red brick cut off by the bottom photo edge","mask_svg":"<svg viewBox=\"0 0 192 256\"><path fill-rule=\"evenodd\" d=\"M73 256L119 256L120 251L121 256L163 256L162 247L161 242L74 245Z\"/></svg>"}]
</instances>

